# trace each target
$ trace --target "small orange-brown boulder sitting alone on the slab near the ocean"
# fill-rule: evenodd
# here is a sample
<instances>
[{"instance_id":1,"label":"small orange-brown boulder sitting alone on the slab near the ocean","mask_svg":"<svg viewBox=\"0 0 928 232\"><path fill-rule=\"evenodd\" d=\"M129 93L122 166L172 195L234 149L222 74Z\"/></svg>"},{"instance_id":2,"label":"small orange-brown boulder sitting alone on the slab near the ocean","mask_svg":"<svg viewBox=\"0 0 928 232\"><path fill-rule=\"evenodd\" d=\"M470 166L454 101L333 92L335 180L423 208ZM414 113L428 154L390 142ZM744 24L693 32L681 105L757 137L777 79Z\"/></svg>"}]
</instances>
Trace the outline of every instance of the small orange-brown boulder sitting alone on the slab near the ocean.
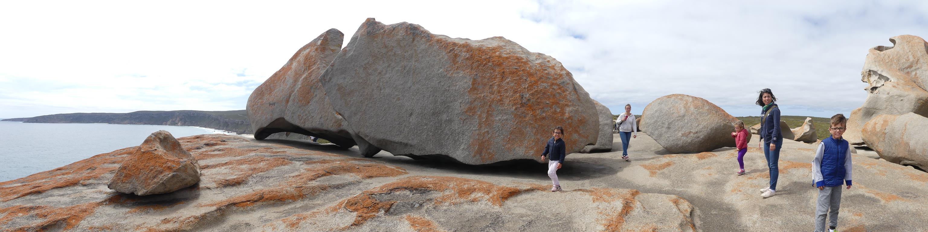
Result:
<instances>
[{"instance_id":1,"label":"small orange-brown boulder sitting alone on the slab near the ocean","mask_svg":"<svg viewBox=\"0 0 928 232\"><path fill-rule=\"evenodd\" d=\"M174 192L200 182L200 164L174 135L157 131L122 161L107 187L138 196Z\"/></svg>"}]
</instances>

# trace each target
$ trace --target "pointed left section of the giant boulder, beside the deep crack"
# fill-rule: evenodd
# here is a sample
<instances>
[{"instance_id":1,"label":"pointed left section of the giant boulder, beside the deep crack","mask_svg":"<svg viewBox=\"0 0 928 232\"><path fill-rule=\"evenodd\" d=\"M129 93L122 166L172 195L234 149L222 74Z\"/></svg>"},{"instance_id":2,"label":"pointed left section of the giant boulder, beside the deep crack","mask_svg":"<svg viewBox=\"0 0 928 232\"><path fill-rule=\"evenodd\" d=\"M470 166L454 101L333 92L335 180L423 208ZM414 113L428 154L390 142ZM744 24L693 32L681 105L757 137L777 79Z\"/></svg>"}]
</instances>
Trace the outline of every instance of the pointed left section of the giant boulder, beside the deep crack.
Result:
<instances>
[{"instance_id":1,"label":"pointed left section of the giant boulder, beside the deep crack","mask_svg":"<svg viewBox=\"0 0 928 232\"><path fill-rule=\"evenodd\" d=\"M354 146L346 123L332 109L319 83L319 76L342 48L343 37L335 29L320 34L254 89L247 105L254 138L291 132L322 137L342 147Z\"/></svg>"}]
</instances>

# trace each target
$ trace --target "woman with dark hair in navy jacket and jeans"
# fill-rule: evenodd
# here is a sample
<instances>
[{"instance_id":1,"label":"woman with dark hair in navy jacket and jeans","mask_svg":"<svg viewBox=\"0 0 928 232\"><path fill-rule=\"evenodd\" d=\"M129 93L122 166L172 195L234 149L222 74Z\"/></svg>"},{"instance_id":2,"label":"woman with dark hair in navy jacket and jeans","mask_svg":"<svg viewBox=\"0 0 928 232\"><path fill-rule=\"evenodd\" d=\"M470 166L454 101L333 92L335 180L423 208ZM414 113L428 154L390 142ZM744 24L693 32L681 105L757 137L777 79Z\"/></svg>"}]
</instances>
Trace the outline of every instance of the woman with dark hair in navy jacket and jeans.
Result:
<instances>
[{"instance_id":1,"label":"woman with dark hair in navy jacket and jeans","mask_svg":"<svg viewBox=\"0 0 928 232\"><path fill-rule=\"evenodd\" d=\"M777 97L773 96L770 89L760 90L760 96L757 97L757 105L763 107L761 110L760 122L760 139L764 145L764 157L767 158L767 168L770 169L770 186L761 188L763 192L760 196L769 198L777 194L777 178L780 177L780 147L783 146L783 135L780 133L780 108L777 107Z\"/></svg>"}]
</instances>

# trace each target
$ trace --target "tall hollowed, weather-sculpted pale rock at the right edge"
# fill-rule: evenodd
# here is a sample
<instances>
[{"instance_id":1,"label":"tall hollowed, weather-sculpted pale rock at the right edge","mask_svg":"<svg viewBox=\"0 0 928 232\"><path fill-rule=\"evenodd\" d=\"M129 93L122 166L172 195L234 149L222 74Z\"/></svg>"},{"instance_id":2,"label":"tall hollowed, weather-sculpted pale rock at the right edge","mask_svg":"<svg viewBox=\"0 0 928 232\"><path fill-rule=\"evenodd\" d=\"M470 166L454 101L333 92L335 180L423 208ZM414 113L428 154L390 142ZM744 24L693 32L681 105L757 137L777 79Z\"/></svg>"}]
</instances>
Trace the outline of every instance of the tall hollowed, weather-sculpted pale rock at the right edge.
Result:
<instances>
[{"instance_id":1,"label":"tall hollowed, weather-sculpted pale rock at the right edge","mask_svg":"<svg viewBox=\"0 0 928 232\"><path fill-rule=\"evenodd\" d=\"M860 80L867 83L868 96L860 109L851 112L844 137L863 144L864 123L881 115L914 112L928 116L928 43L914 35L889 39L893 46L870 48Z\"/></svg>"}]
</instances>

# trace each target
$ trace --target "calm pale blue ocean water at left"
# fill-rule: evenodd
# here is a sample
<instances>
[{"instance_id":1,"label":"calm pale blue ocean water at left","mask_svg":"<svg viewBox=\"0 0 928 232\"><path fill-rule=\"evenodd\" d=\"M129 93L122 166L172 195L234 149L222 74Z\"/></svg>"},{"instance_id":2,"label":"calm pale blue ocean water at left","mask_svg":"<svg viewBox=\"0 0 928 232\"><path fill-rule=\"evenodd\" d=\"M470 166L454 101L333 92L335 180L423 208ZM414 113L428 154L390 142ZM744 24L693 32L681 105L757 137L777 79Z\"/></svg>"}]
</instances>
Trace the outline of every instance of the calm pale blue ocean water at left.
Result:
<instances>
[{"instance_id":1,"label":"calm pale blue ocean water at left","mask_svg":"<svg viewBox=\"0 0 928 232\"><path fill-rule=\"evenodd\" d=\"M158 130L174 137L232 134L194 126L0 122L0 182L138 146Z\"/></svg>"}]
</instances>

